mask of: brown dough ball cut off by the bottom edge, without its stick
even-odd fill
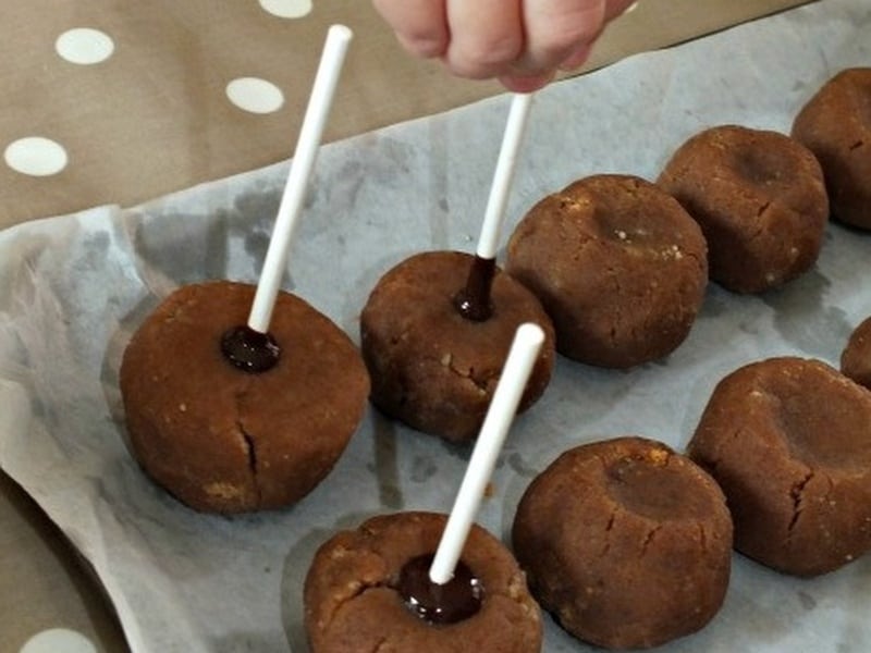
[[[480,608],[452,624],[429,624],[397,591],[403,567],[433,554],[445,515],[373,517],[322,544],[305,581],[305,627],[312,653],[531,653],[541,650],[538,604],[511,552],[474,526],[461,563],[479,580]]]

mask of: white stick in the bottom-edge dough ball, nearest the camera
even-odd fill
[[[478,442],[471,452],[466,476],[463,477],[429,569],[429,579],[434,583],[444,584],[454,577],[454,569],[478,514],[487,483],[493,475],[499,452],[543,342],[544,331],[538,324],[527,322],[517,328],[493,401],[490,402]]]

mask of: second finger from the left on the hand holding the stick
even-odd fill
[[[449,0],[449,67],[474,79],[506,73],[523,51],[520,11],[520,0]]]

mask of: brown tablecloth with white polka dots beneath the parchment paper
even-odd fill
[[[608,29],[585,71],[802,3],[643,0]],[[342,110],[331,115],[327,140],[503,90],[406,56],[368,2],[311,4],[7,3],[0,229],[99,205],[135,206],[287,159],[333,23],[352,27],[355,39],[335,98]],[[70,32],[81,28],[99,32]],[[228,85],[245,78],[270,91],[258,96],[267,104],[257,111],[229,100]],[[41,140],[24,140],[33,137]],[[48,145],[48,157],[16,158],[16,147],[34,144]],[[127,650],[94,574],[2,472],[0,525],[0,652],[19,653],[54,628],[81,633],[97,651]]]

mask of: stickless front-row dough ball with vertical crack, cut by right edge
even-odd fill
[[[770,358],[714,389],[688,454],[726,494],[735,547],[798,576],[871,547],[871,394],[827,365]]]

